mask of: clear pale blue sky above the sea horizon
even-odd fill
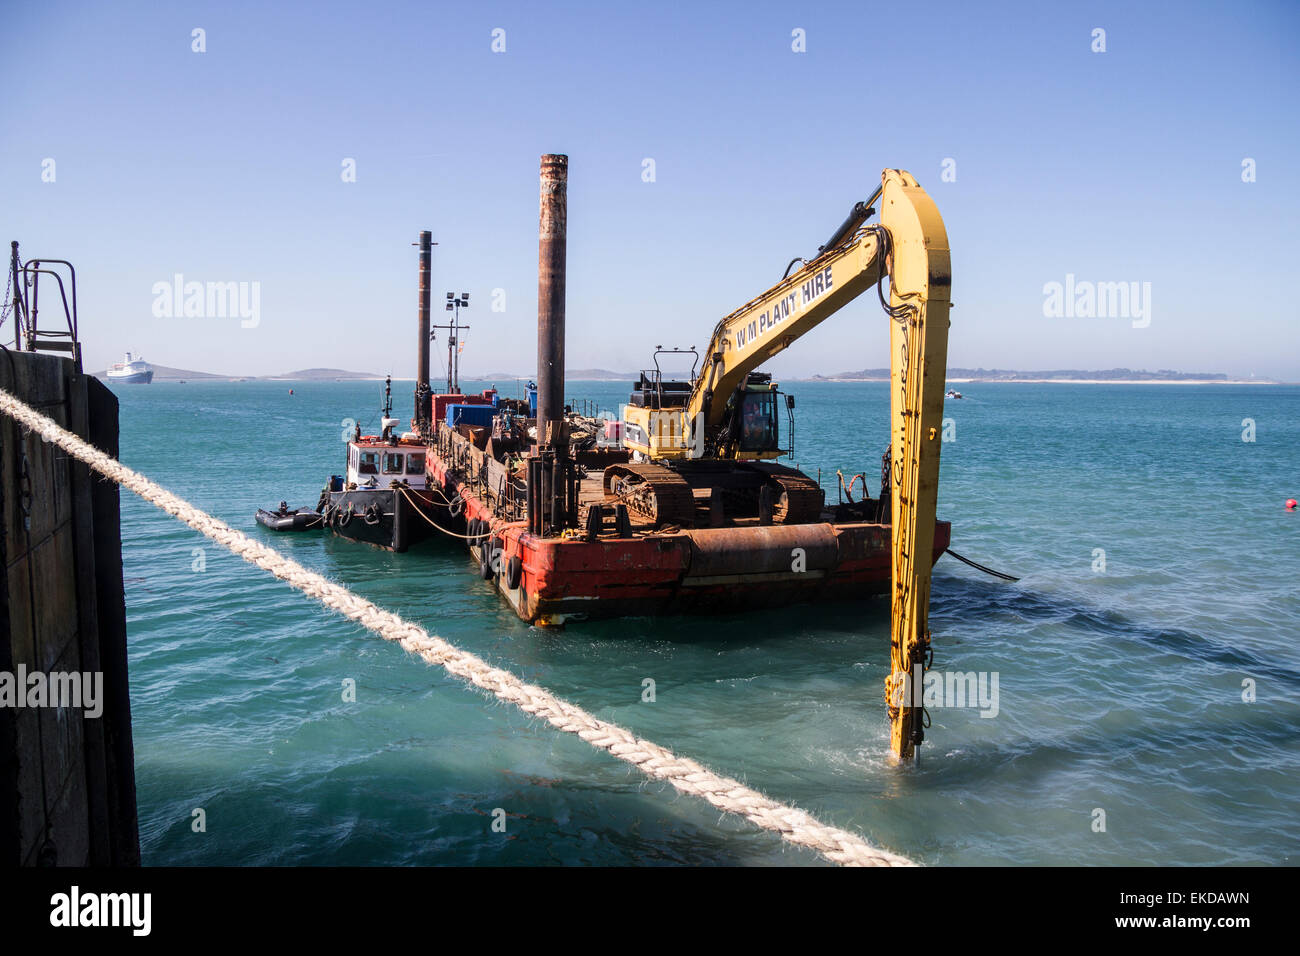
[[[6,4],[0,238],[75,263],[88,369],[411,376],[430,229],[436,308],[471,293],[464,376],[529,372],[538,157],[564,152],[568,365],[623,371],[703,347],[897,166],[946,221],[950,365],[1296,381],[1297,27],[1295,3]],[[155,315],[177,273],[257,282],[256,326]],[[1149,282],[1149,324],[1045,316],[1067,274]],[[772,368],[883,367],[887,338],[862,297]]]

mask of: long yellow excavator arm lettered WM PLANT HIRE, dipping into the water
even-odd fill
[[[879,225],[866,225],[879,202]],[[794,339],[889,277],[890,507],[893,570],[890,674],[885,700],[890,748],[904,760],[924,736],[922,678],[930,654],[930,570],[939,494],[939,451],[948,368],[952,285],[948,233],[933,200],[900,169],[836,230],[803,268],[718,323],[685,408],[690,457],[746,376]],[[689,423],[689,424],[686,424]]]

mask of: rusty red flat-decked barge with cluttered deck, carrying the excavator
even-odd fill
[[[542,470],[529,466],[537,459],[517,455],[519,446],[508,438],[494,440],[498,433],[494,428],[476,434],[441,421],[425,468],[443,514],[459,518],[480,576],[493,581],[524,620],[558,626],[602,617],[725,613],[889,592],[890,525],[878,520],[881,510],[888,514],[888,501],[842,502],[820,510],[812,522],[775,524],[763,515],[725,512],[719,522],[716,496],[696,493],[694,527],[664,524],[611,496],[604,470],[627,463],[629,454],[601,449],[572,455],[566,527],[540,533]],[[948,548],[950,533],[948,522],[936,523],[931,563]]]

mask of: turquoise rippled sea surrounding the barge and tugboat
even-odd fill
[[[939,562],[935,669],[996,674],[997,714],[933,708],[913,767],[887,756],[881,601],[534,630],[460,542],[398,555],[255,524],[281,498],[315,505],[342,470],[344,421],[377,424],[382,384],[116,390],[122,459],[199,507],[923,864],[1295,864],[1300,512],[1283,502],[1300,497],[1300,388],[958,388],[940,515],[954,550],[1022,580]],[[411,384],[394,390],[408,414]],[[569,385],[611,411],[627,390]],[[832,499],[836,468],[867,472],[875,492],[887,386],[789,390],[794,460],[822,470]],[[133,496],[122,503],[146,864],[823,862],[408,657]]]

